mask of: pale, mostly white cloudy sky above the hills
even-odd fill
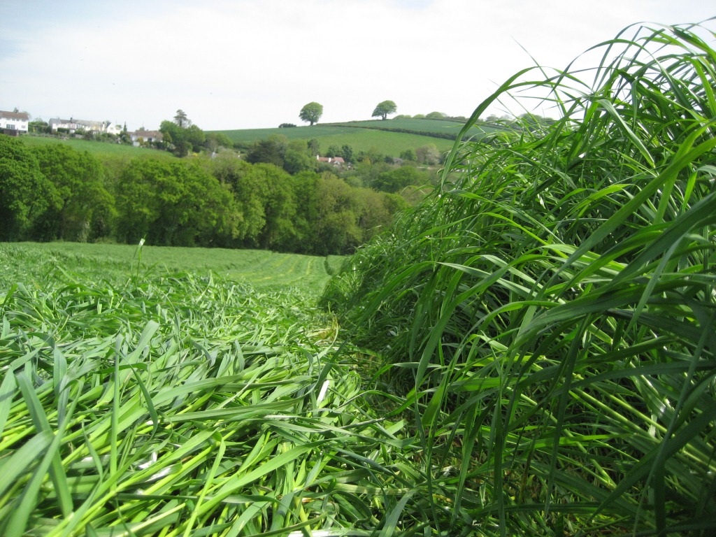
[[[314,101],[320,122],[384,100],[469,116],[535,61],[713,16],[708,0],[0,0],[0,110],[129,130],[179,109],[203,130],[303,125]]]

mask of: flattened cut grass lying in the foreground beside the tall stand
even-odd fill
[[[0,289],[0,534],[382,526],[409,442],[301,291],[142,274]]]

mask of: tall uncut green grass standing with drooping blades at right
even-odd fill
[[[437,531],[716,528],[710,24],[516,74],[465,129],[513,95],[561,119],[456,142],[442,188],[329,287],[412,410],[425,490],[453,505]]]

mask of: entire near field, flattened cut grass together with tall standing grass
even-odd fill
[[[0,534],[712,536],[715,38],[516,73],[348,258],[1,245]]]

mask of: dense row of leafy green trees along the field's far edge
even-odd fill
[[[183,127],[186,128],[186,127]],[[169,155],[102,162],[63,144],[0,136],[0,241],[118,241],[163,246],[350,253],[407,205],[425,178],[380,168],[367,183],[329,170]],[[407,175],[406,175],[407,174]],[[353,183],[353,184],[351,184]]]

